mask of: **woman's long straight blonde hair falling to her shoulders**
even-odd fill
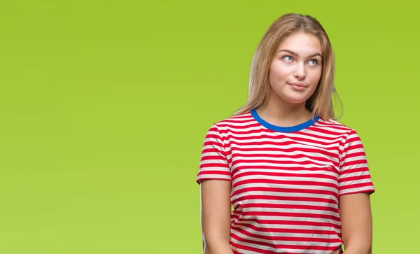
[[[234,115],[241,115],[267,103],[271,92],[269,85],[269,66],[279,44],[290,34],[304,32],[316,36],[321,42],[322,73],[314,94],[306,101],[306,108],[312,117],[318,115],[325,120],[337,120],[334,115],[332,94],[336,96],[334,87],[335,57],[327,33],[314,17],[288,13],[282,15],[267,29],[254,52],[249,74],[248,101]]]

